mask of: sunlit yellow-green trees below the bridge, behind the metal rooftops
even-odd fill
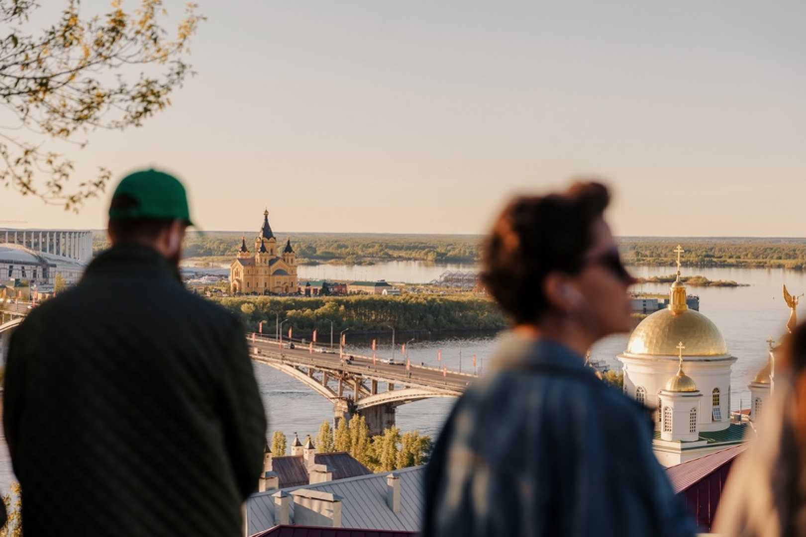
[[[347,452],[373,472],[391,472],[428,462],[432,442],[430,436],[418,431],[401,433],[397,427],[384,429],[382,435],[369,436],[367,420],[356,415],[339,419],[335,430],[327,421],[322,422],[314,440],[317,453]],[[272,435],[272,456],[287,454],[288,440],[280,431]]]

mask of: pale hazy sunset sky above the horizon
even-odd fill
[[[804,236],[803,2],[197,2],[172,107],[70,156],[174,172],[201,229],[484,233],[598,176],[620,235]],[[0,226],[102,228],[109,194],[0,188]]]

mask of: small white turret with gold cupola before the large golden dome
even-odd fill
[[[687,374],[683,372],[683,349],[680,341],[678,369],[660,391],[661,440],[692,442],[700,438],[700,401],[702,393]]]

